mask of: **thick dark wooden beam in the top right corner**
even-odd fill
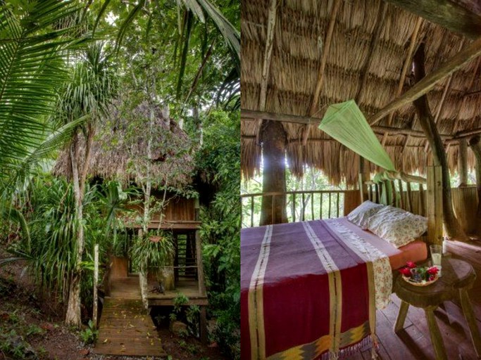
[[[468,39],[477,39],[481,34],[481,17],[450,0],[385,0],[430,23]]]

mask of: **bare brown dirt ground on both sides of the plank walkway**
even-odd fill
[[[0,259],[5,254],[0,253]],[[142,360],[152,357],[101,356],[83,345],[78,330],[63,325],[63,308],[37,294],[19,263],[0,266],[0,360]],[[196,338],[180,338],[158,329],[167,360],[225,360],[215,344],[202,345]],[[8,352],[7,352],[8,349]],[[13,349],[13,350],[12,350]],[[13,351],[13,353],[12,353]]]

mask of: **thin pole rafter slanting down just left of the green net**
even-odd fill
[[[320,66],[318,71],[318,81],[316,82],[316,89],[314,90],[314,95],[311,101],[311,106],[308,111],[309,116],[313,116],[316,113],[316,108],[318,106],[318,100],[320,95],[320,89],[323,87],[324,82],[324,72],[325,72],[325,65],[327,64],[327,55],[329,55],[329,51],[331,48],[332,42],[332,34],[334,34],[334,25],[336,24],[337,12],[341,7],[341,0],[335,0],[334,5],[332,6],[332,11],[329,19],[329,27],[327,27],[327,34],[324,41],[323,46],[323,56],[320,59]],[[309,131],[311,127],[306,125],[304,127],[302,138],[304,139],[303,143],[306,145],[307,138],[309,137]]]

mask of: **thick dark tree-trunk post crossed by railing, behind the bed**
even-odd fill
[[[261,129],[263,150],[263,193],[285,193],[286,134],[280,122],[266,121]],[[274,201],[273,201],[274,200]],[[261,225],[287,222],[285,195],[263,196]]]

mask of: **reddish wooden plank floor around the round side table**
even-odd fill
[[[477,325],[481,329],[481,241],[470,243],[449,242],[448,251],[454,258],[463,259],[473,265],[478,275],[475,286],[470,290],[470,299],[477,318]],[[404,330],[395,334],[393,330],[399,310],[400,300],[392,295],[393,302],[382,310],[377,311],[377,337],[380,346],[377,351],[382,360],[435,360],[424,311],[409,307]],[[448,359],[475,360],[477,356],[470,341],[468,325],[463,317],[458,300],[445,302],[444,309],[435,311],[437,324],[441,330]],[[349,357],[352,360],[367,360],[371,357],[370,349],[358,352]]]

